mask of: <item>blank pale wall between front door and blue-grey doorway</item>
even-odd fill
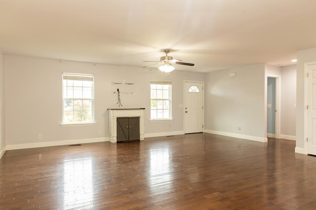
[[[206,74],[205,131],[266,141],[265,78],[264,63]]]

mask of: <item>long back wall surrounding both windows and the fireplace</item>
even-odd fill
[[[146,134],[183,133],[183,81],[204,81],[204,73],[175,70],[169,76],[158,69],[93,64],[87,62],[5,56],[5,131],[7,149],[49,146],[43,142],[108,137],[108,108],[146,108]],[[95,76],[95,125],[61,127],[62,73]],[[150,79],[172,80],[172,121],[150,122]],[[114,85],[112,83],[135,83]],[[132,94],[130,94],[132,92]],[[98,131],[102,134],[99,135]],[[38,139],[38,134],[42,139]],[[93,141],[94,141],[93,140]],[[31,144],[30,144],[31,143]],[[29,145],[25,145],[29,144]],[[60,142],[59,142],[60,144]],[[13,146],[12,146],[13,145]],[[14,146],[15,145],[15,146]],[[17,146],[18,145],[18,146]]]

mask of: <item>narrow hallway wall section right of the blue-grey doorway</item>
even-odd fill
[[[296,136],[296,64],[281,68],[281,138]]]

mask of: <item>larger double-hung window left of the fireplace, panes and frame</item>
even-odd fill
[[[94,123],[94,77],[63,74],[63,124]]]

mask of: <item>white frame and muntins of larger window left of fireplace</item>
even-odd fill
[[[91,98],[89,97],[84,97],[83,96],[83,86],[82,86],[82,97],[74,97],[73,96],[68,96],[67,94],[65,95],[65,90],[64,90],[64,83],[65,82],[68,82],[68,81],[89,81],[91,82]],[[62,87],[62,91],[63,91],[63,113],[62,113],[62,116],[63,116],[63,121],[62,121],[62,125],[83,125],[83,124],[94,124],[94,76],[92,74],[75,74],[75,73],[63,73],[62,74],[62,84],[63,84],[63,87]],[[68,87],[68,85],[66,85],[66,87]],[[74,86],[73,86],[74,88]],[[68,122],[66,121],[65,119],[65,100],[82,100],[82,103],[83,103],[83,100],[89,100],[91,101],[91,120],[89,121],[72,121],[72,122]],[[82,104],[82,108],[83,108],[83,104]],[[75,110],[73,110],[75,112]],[[83,112],[84,110],[82,110]]]

